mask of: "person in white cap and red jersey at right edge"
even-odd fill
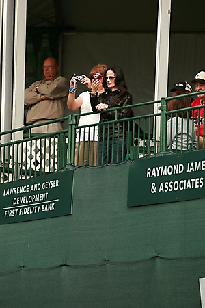
[[[201,71],[195,75],[195,79],[191,81],[195,84],[195,92],[205,91],[205,72]],[[191,107],[202,106],[205,107],[205,93],[197,94],[197,99],[191,103]],[[195,124],[195,134],[198,138],[199,146],[204,147],[204,108],[193,110],[191,119]]]

